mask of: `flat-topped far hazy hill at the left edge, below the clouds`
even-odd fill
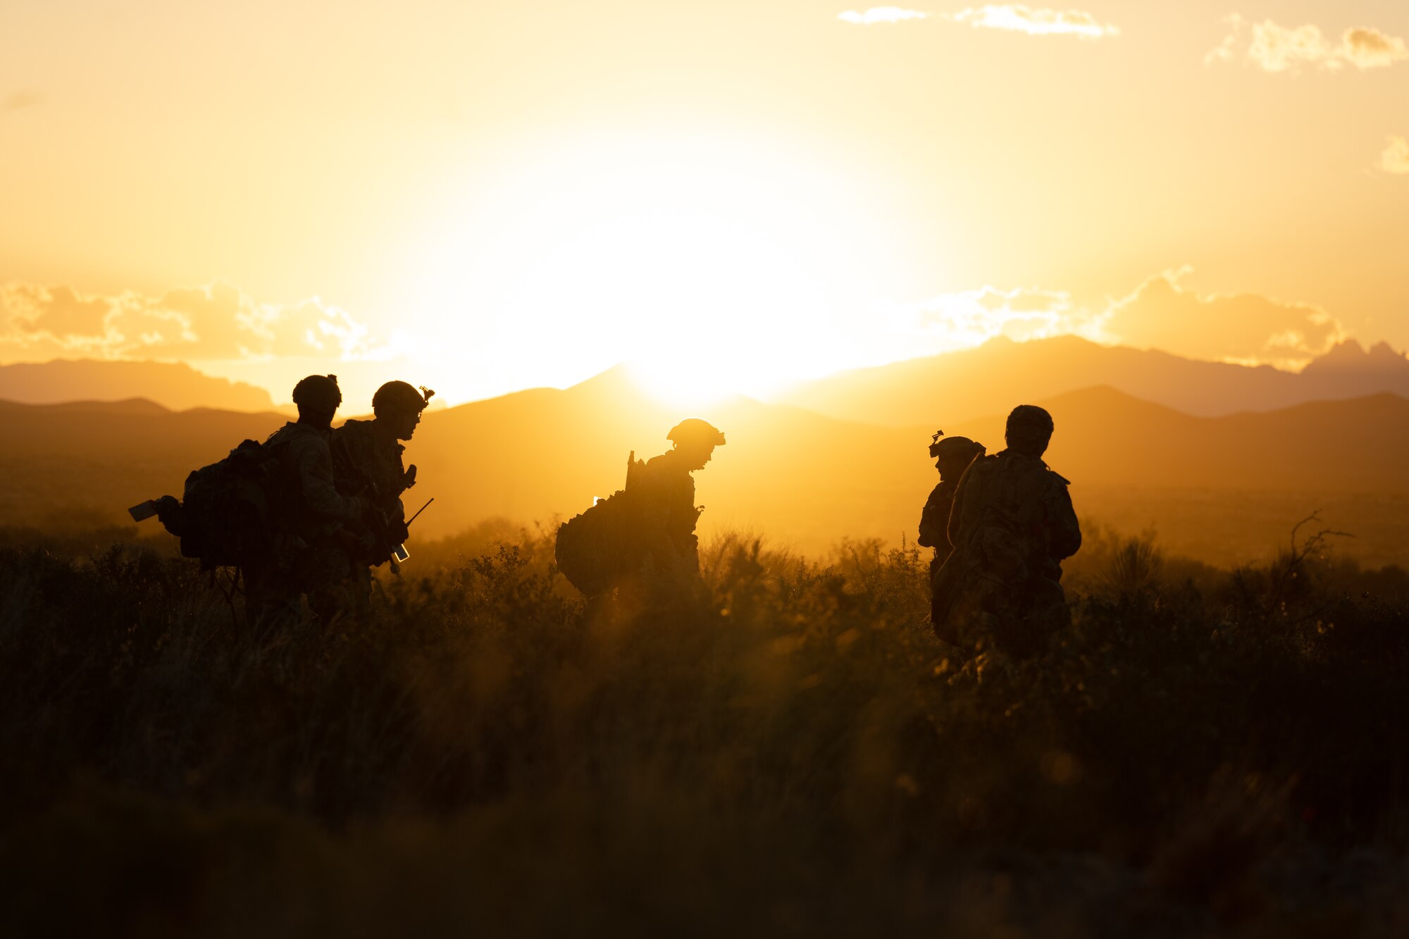
[[[273,410],[269,392],[179,362],[54,360],[0,365],[0,399],[28,405],[145,398],[172,410]]]

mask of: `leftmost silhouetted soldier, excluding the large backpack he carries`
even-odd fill
[[[292,533],[292,548],[287,557],[278,553],[241,561],[247,612],[261,632],[299,618],[299,595],[309,592],[311,601],[328,556],[371,509],[366,499],[340,493],[333,481],[328,438],[342,403],[337,375],[309,375],[293,386],[293,403],[299,420],[273,431],[263,444],[278,454],[282,522]]]

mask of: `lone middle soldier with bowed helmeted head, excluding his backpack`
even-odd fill
[[[695,505],[696,470],[724,446],[724,434],[699,417],[686,417],[665,436],[672,450],[652,457],[641,475],[641,548],[661,574],[697,575],[699,537],[695,524],[704,506]]]

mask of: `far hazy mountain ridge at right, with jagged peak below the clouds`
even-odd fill
[[[1409,396],[1409,360],[1384,343],[1365,351],[1347,341],[1295,374],[1098,345],[1075,336],[995,338],[972,350],[840,372],[782,400],[845,420],[948,430],[957,420],[1095,385],[1212,417],[1378,392]]]

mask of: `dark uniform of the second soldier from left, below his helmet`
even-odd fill
[[[333,471],[338,489],[369,499],[382,520],[355,529],[338,553],[324,594],[320,615],[337,613],[365,619],[372,612],[372,567],[390,560],[392,548],[407,537],[402,493],[416,482],[402,461],[406,447],[375,420],[348,420],[333,431]],[[382,523],[385,522],[385,524]]]

